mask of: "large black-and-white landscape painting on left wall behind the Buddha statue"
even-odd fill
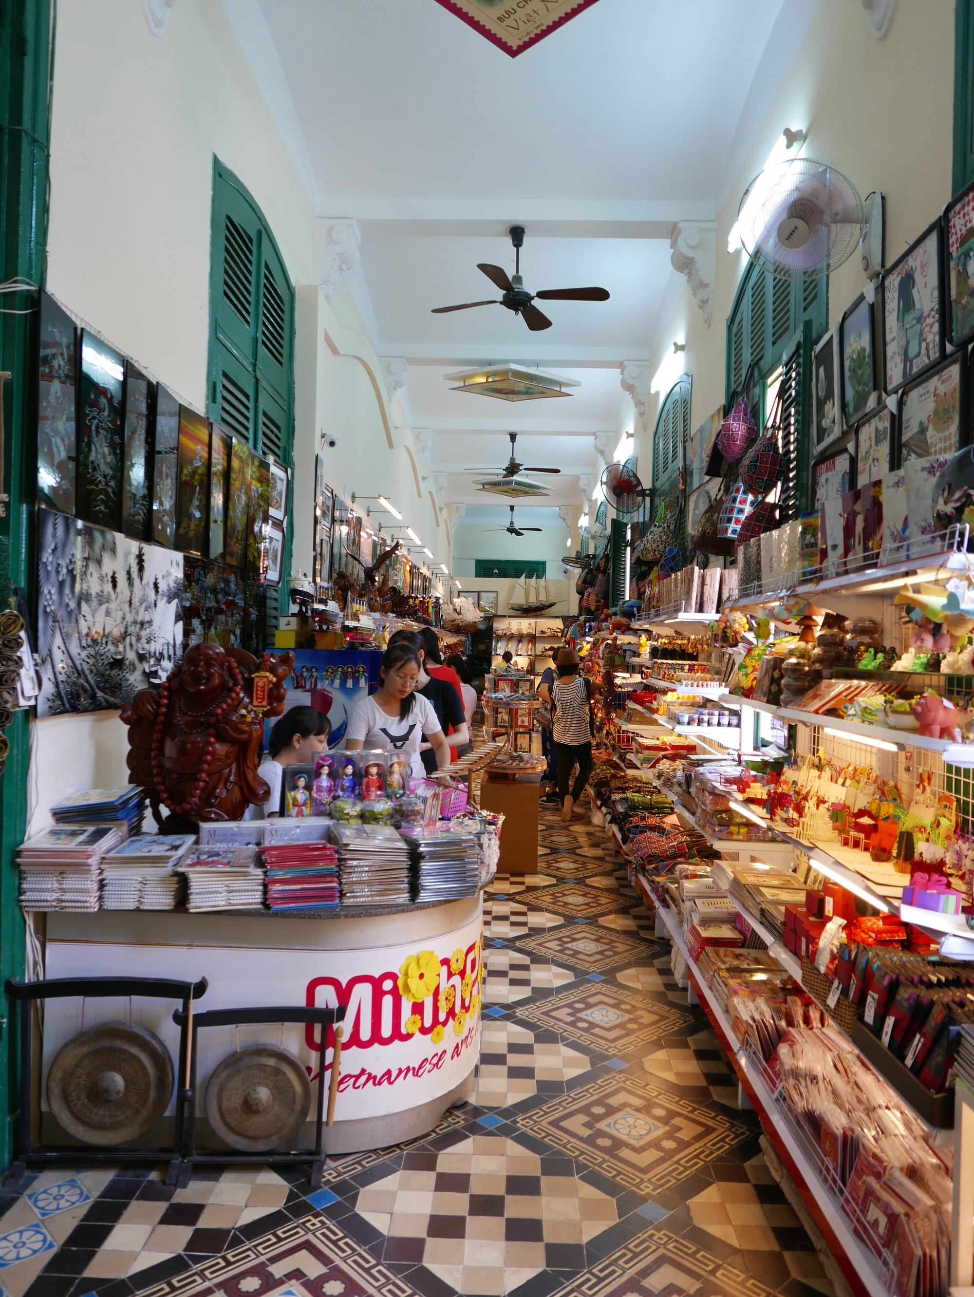
[[[183,555],[39,510],[38,716],[123,707],[183,654]]]

